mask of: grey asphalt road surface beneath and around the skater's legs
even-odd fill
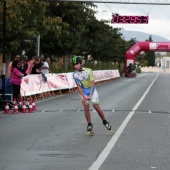
[[[91,106],[94,136],[78,92],[0,113],[0,170],[169,170],[170,74],[142,73],[97,86],[112,135]]]

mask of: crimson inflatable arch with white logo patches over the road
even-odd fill
[[[126,52],[125,59],[125,75],[126,68],[130,63],[134,63],[136,60],[136,56],[141,51],[170,51],[170,42],[137,42]]]

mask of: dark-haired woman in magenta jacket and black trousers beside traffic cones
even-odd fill
[[[21,87],[22,77],[24,77],[24,74],[21,72],[21,62],[13,61],[11,84],[13,87],[13,99],[16,99],[16,101],[18,101],[20,97],[20,87]]]

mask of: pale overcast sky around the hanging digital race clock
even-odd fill
[[[149,16],[148,24],[110,24],[114,28],[155,34],[170,40],[170,5],[139,5],[96,3],[97,19],[111,20],[112,13],[119,15]]]

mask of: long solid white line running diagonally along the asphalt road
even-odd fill
[[[132,111],[128,114],[128,116],[125,118],[125,120],[123,121],[123,123],[120,125],[119,129],[116,131],[116,133],[113,135],[113,137],[110,139],[110,141],[108,142],[108,144],[106,145],[106,147],[103,149],[103,151],[101,152],[101,154],[98,156],[98,158],[96,159],[96,161],[90,166],[90,168],[88,170],[98,170],[100,168],[100,166],[103,164],[103,162],[105,161],[105,159],[107,158],[107,156],[109,155],[110,151],[112,150],[112,148],[114,147],[114,145],[116,144],[117,140],[119,139],[120,135],[122,134],[123,130],[125,129],[126,125],[128,124],[128,122],[130,121],[130,119],[132,118],[132,116],[135,113],[135,110],[137,110],[137,108],[139,107],[139,105],[142,103],[142,101],[144,100],[144,98],[146,97],[147,93],[149,92],[150,88],[152,87],[152,85],[154,84],[154,82],[156,81],[156,79],[158,78],[159,74],[156,76],[156,78],[152,81],[152,83],[149,85],[148,89],[145,91],[145,93],[143,94],[143,96],[139,99],[139,101],[136,103],[136,105],[133,107]]]

